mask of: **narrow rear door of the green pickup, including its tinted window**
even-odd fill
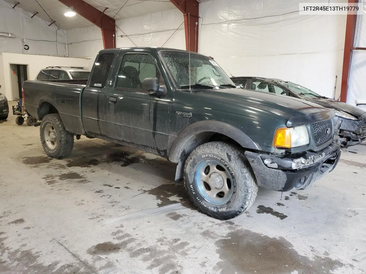
[[[81,113],[83,126],[86,132],[105,135],[105,129],[101,128],[102,109],[99,105],[99,97],[107,88],[107,79],[111,76],[111,67],[115,59],[114,53],[102,53],[93,65],[90,80],[82,93]]]

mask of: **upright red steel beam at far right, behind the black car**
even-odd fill
[[[348,0],[348,3],[358,3],[358,0]],[[346,37],[344,38],[343,69],[341,82],[341,102],[347,101],[348,78],[350,77],[350,65],[352,49],[355,41],[357,15],[347,14]]]

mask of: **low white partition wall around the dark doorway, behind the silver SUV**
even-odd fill
[[[84,66],[89,65],[89,60],[81,58],[66,58],[53,56],[40,56],[31,54],[2,53],[0,68],[1,93],[5,94],[8,100],[14,100],[11,90],[11,69],[10,64],[28,65],[28,79],[36,79],[38,72],[47,66]],[[3,77],[1,77],[3,75]]]

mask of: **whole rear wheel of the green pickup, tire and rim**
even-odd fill
[[[43,117],[40,136],[47,155],[60,159],[72,152],[74,134],[66,131],[59,114],[47,114]]]

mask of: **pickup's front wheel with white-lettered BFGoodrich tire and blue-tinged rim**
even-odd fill
[[[191,152],[184,186],[201,212],[220,220],[245,212],[258,193],[249,162],[238,147],[225,142],[209,142]]]

